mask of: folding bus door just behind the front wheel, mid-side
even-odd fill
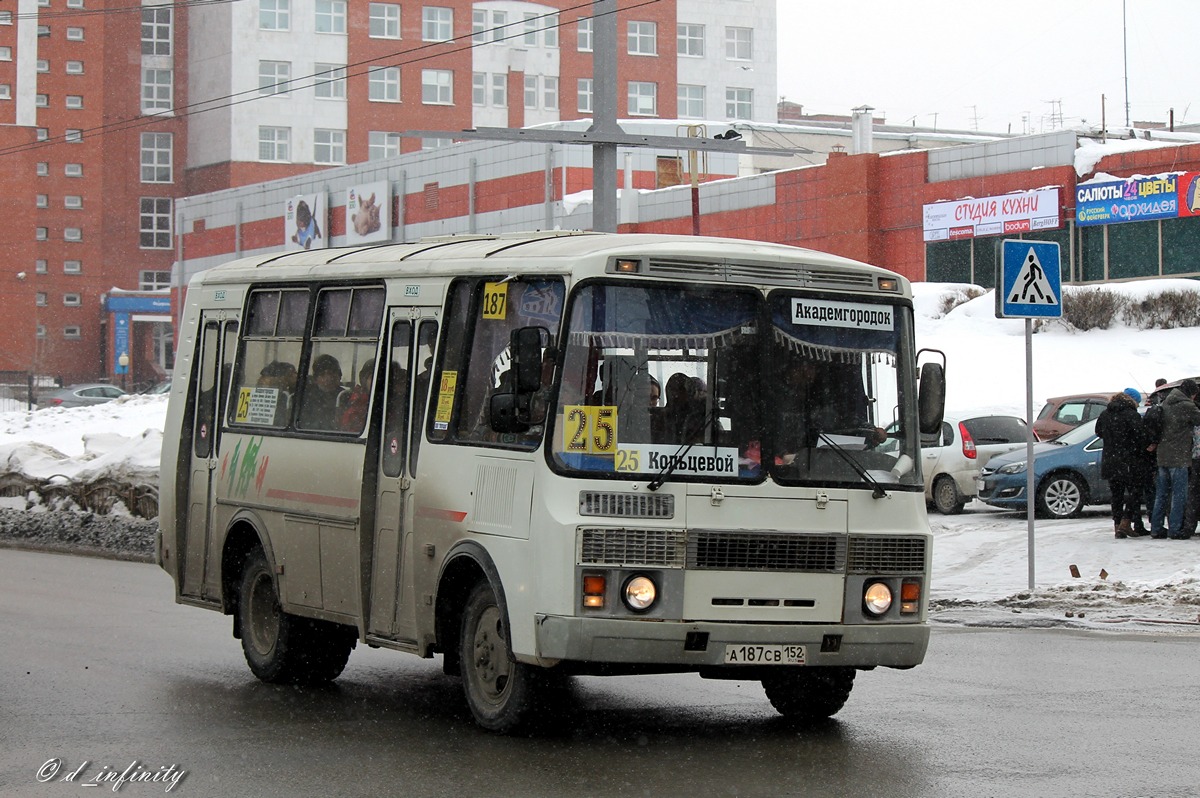
[[[410,474],[428,396],[428,370],[436,340],[436,320],[422,319],[416,308],[391,310],[367,631],[396,640],[413,641],[416,636],[412,606],[413,538],[406,499],[413,487]]]

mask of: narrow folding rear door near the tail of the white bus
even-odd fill
[[[184,553],[182,587],[180,593],[196,598],[216,599],[204,589],[206,552],[211,536],[212,488],[220,458],[220,430],[224,397],[229,392],[233,355],[238,349],[238,322],[227,319],[226,312],[200,314],[200,336],[197,347],[198,373],[196,394],[188,413],[192,418],[191,462],[187,485],[187,524],[179,548]]]

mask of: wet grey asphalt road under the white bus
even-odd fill
[[[0,550],[0,796],[1200,794],[1195,635],[936,626],[806,730],[756,683],[577,679],[556,728],[506,738],[438,660],[260,684],[172,595],[152,565]]]

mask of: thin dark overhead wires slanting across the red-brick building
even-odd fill
[[[239,0],[205,0],[205,5],[208,5],[210,2],[238,2],[238,1]],[[199,0],[191,0],[191,2],[193,5],[197,5],[199,2]],[[599,17],[604,17],[604,16],[608,16],[608,14],[616,14],[616,13],[619,13],[619,12],[634,11],[634,10],[637,10],[637,8],[642,8],[644,6],[655,5],[658,2],[661,2],[661,0],[642,0],[641,2],[636,2],[636,4],[632,4],[632,5],[625,6],[624,8],[617,8],[614,11],[606,11],[606,12],[602,12],[600,14],[593,14],[593,16],[588,16],[588,17],[580,17],[580,19],[595,19],[595,18],[599,18]],[[184,5],[184,4],[179,4],[179,5]],[[575,6],[568,6],[566,8],[556,10],[553,12],[548,12],[548,13],[545,13],[545,14],[539,14],[539,16],[532,17],[529,19],[545,19],[547,17],[560,16],[562,13],[570,12],[570,11],[578,11],[580,8],[584,8],[584,7],[590,8],[592,5],[593,4],[590,2],[590,0],[587,0],[586,2],[581,2],[581,4],[575,5]],[[157,6],[138,6],[139,10],[143,8],[143,7],[154,8],[154,7],[157,7]],[[424,61],[428,61],[428,60],[432,60],[434,58],[444,58],[446,55],[452,55],[455,53],[469,52],[469,50],[475,49],[476,47],[482,47],[485,44],[492,44],[492,43],[500,42],[500,41],[508,41],[510,38],[523,37],[526,35],[526,31],[523,30],[523,28],[527,24],[527,22],[528,22],[528,19],[520,19],[520,20],[516,20],[516,22],[506,23],[504,25],[497,25],[494,28],[488,28],[488,29],[484,29],[484,30],[479,30],[479,31],[474,31],[473,30],[472,31],[472,42],[469,44],[460,46],[460,47],[455,47],[455,48],[449,48],[449,49],[442,50],[442,52],[439,52],[437,54],[433,54],[433,55],[421,55],[421,56],[412,59],[412,60],[400,60],[400,61],[395,61],[395,62],[388,62],[386,61],[388,59],[391,59],[391,58],[410,56],[414,53],[420,53],[421,50],[427,50],[427,49],[436,48],[436,47],[439,47],[439,46],[443,46],[443,44],[454,44],[455,40],[454,38],[449,38],[449,40],[438,41],[438,42],[424,42],[422,44],[420,44],[418,47],[414,47],[414,48],[410,48],[410,49],[407,49],[407,50],[397,50],[395,53],[389,53],[386,55],[379,55],[379,56],[376,56],[376,58],[372,58],[372,59],[366,59],[364,61],[358,61],[358,62],[354,62],[354,64],[347,64],[346,67],[344,67],[347,70],[344,79],[349,79],[352,77],[360,77],[360,76],[367,74],[367,73],[370,73],[372,71],[372,68],[376,68],[376,67],[379,67],[379,66],[383,66],[383,67],[388,67],[388,66],[400,66],[400,67],[412,66],[414,64],[421,64]],[[551,28],[554,29],[554,30],[560,30],[565,24],[566,23],[563,23],[560,20],[558,24],[552,25]],[[517,25],[520,25],[522,28],[522,30],[520,30],[517,32],[514,32],[514,34],[505,35],[505,36],[496,36],[494,35],[496,31],[502,31],[502,30],[504,30],[506,28],[514,28],[514,26],[517,26]],[[542,28],[541,30],[550,30],[551,28]],[[480,35],[480,34],[484,34],[484,35],[491,34],[491,36],[488,36],[488,40],[486,42],[475,42],[474,37],[476,35]],[[384,61],[384,64],[379,64],[380,61]],[[373,66],[367,66],[367,65],[373,65]],[[362,66],[366,66],[367,68],[364,68],[364,70],[360,70],[360,71],[353,72],[353,73],[349,72],[350,68],[356,68],[356,67],[362,67]],[[313,80],[313,83],[311,83],[311,84],[304,84],[304,85],[298,85],[296,86],[299,89],[308,89],[308,88],[313,88],[313,86],[317,86],[317,85],[320,85],[320,84],[332,83],[334,80],[329,79],[330,74],[331,74],[331,72],[329,72],[329,71],[316,72],[313,74],[301,76],[299,78],[290,78],[288,80],[282,80],[280,83],[271,84],[270,88],[276,88],[276,86],[281,86],[281,85],[299,84],[302,80]],[[154,125],[154,124],[163,121],[163,120],[184,119],[186,116],[192,116],[192,115],[196,115],[196,114],[203,114],[203,113],[208,113],[210,110],[221,110],[223,108],[232,108],[234,106],[240,106],[242,103],[254,102],[254,101],[258,101],[258,100],[269,100],[269,98],[276,96],[274,94],[271,94],[271,95],[260,94],[260,91],[264,88],[266,88],[266,86],[258,86],[258,88],[254,88],[254,89],[247,89],[245,91],[238,91],[238,92],[223,95],[223,96],[220,96],[220,97],[212,97],[212,98],[209,98],[209,100],[202,100],[199,102],[188,103],[187,106],[184,106],[181,109],[180,108],[172,108],[170,110],[166,110],[166,112],[162,112],[162,113],[140,114],[138,116],[131,116],[131,118],[126,118],[126,119],[119,119],[119,120],[115,120],[113,122],[106,122],[103,125],[98,125],[96,127],[82,128],[78,132],[72,132],[70,134],[64,133],[61,136],[52,136],[49,138],[42,139],[40,142],[32,142],[30,144],[17,144],[17,145],[8,146],[8,148],[0,148],[0,157],[4,157],[6,155],[16,155],[16,154],[19,154],[19,152],[28,152],[28,151],[31,151],[31,150],[38,150],[38,149],[43,149],[43,148],[47,148],[47,146],[56,146],[59,144],[64,144],[64,143],[67,143],[67,142],[79,143],[80,139],[85,139],[85,138],[89,138],[89,137],[96,137],[96,136],[103,137],[103,136],[108,136],[110,133],[121,133],[121,132],[125,132],[125,131],[128,131],[128,130],[134,130],[134,128],[138,128],[138,127],[145,127],[145,126],[149,126],[149,125]],[[217,103],[217,104],[214,104],[214,103]]]

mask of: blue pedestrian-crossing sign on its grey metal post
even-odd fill
[[[1062,317],[1062,266],[1058,245],[1006,239],[996,263],[996,318],[1025,319],[1025,522],[1028,527],[1030,589],[1034,584],[1033,514],[1037,480],[1033,454],[1033,319]]]

